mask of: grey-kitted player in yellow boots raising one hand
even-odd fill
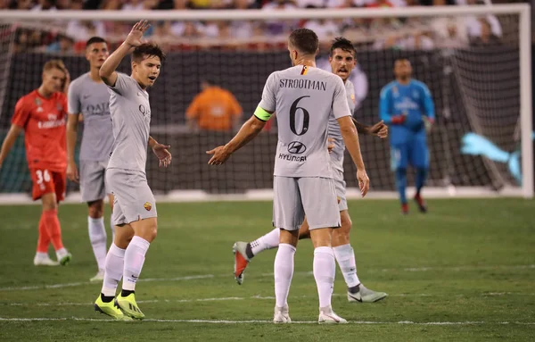
[[[169,146],[149,136],[151,106],[146,89],[158,79],[165,54],[160,47],[142,42],[148,28],[147,21],[136,22],[127,39],[99,71],[111,94],[114,141],[106,182],[114,196],[115,235],[106,255],[103,288],[95,301],[95,310],[118,320],[144,318],[136,304],[136,281],[157,230],[156,204],[145,174],[147,145],[161,166],[171,163]],[[131,76],[115,71],[128,54],[132,54]],[[114,301],[121,278],[122,291]]]

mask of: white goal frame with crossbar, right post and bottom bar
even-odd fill
[[[529,4],[495,4],[495,5],[457,5],[457,6],[411,6],[403,8],[374,8],[374,9],[300,9],[293,11],[264,11],[264,10],[204,10],[204,11],[2,11],[0,25],[14,22],[47,22],[47,21],[267,21],[267,20],[302,20],[302,19],[374,19],[374,18],[407,18],[407,17],[464,17],[482,15],[514,15],[518,18],[517,48],[518,48],[518,84],[519,84],[519,113],[518,127],[520,134],[520,150],[522,154],[522,186],[519,188],[505,187],[501,191],[492,191],[481,186],[432,187],[426,189],[426,194],[437,196],[523,196],[532,198],[534,195],[533,171],[533,126],[532,126],[532,98],[531,98],[531,7]],[[516,41],[516,39],[515,39]],[[4,52],[0,53],[4,54]],[[1,80],[0,80],[1,81]],[[484,89],[482,90],[484,91]],[[0,92],[1,94],[1,92]],[[518,94],[517,94],[518,95]],[[440,95],[438,95],[440,96]],[[258,97],[259,98],[259,95]],[[2,99],[0,99],[2,103]],[[0,111],[2,108],[0,107]],[[248,113],[245,113],[248,114]],[[440,113],[438,113],[440,115]],[[11,115],[2,113],[1,115]],[[0,115],[0,116],[1,116]],[[369,122],[368,122],[369,123]],[[366,153],[366,152],[365,152]],[[393,178],[393,175],[391,175]],[[433,191],[434,190],[434,191]],[[0,189],[1,191],[1,189]],[[429,192],[428,192],[429,191]],[[349,189],[348,197],[358,197],[358,192]],[[170,200],[194,199],[224,199],[224,196],[206,196],[197,190],[168,191]],[[189,195],[191,195],[191,197]],[[203,194],[203,195],[199,195]],[[268,195],[266,195],[268,194]],[[395,196],[392,191],[385,191],[389,197]],[[370,194],[372,195],[372,194]],[[0,197],[3,197],[0,192]],[[244,192],[244,196],[229,196],[228,198],[268,198],[269,192],[251,189]],[[383,195],[376,195],[383,197]],[[13,197],[12,197],[13,198]],[[0,202],[2,202],[0,198]]]

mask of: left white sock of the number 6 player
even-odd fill
[[[288,292],[292,284],[293,256],[295,247],[288,244],[280,244],[275,256],[275,298],[276,306],[283,307],[288,304]]]

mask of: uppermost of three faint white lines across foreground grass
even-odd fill
[[[375,273],[375,272],[391,272],[391,271],[409,271],[409,272],[424,272],[424,271],[477,271],[477,270],[535,270],[535,264],[529,264],[529,265],[479,265],[479,266],[445,266],[445,267],[416,267],[416,268],[404,268],[404,269],[379,269],[379,270],[366,270],[366,272]],[[313,275],[312,271],[296,271],[293,273],[294,275]],[[261,277],[273,277],[273,273],[261,273],[259,276]],[[214,274],[202,274],[202,275],[193,275],[193,276],[184,276],[184,277],[176,277],[176,278],[146,278],[146,279],[139,279],[137,281],[157,281],[157,282],[165,282],[165,281],[182,281],[182,280],[193,280],[193,279],[210,279],[215,277],[221,277],[221,278],[229,278],[228,274],[220,274],[220,275],[214,275]],[[51,289],[51,288],[70,288],[70,287],[78,287],[78,286],[85,286],[85,285],[93,285],[98,283],[92,283],[89,281],[82,281],[82,282],[72,282],[72,283],[61,283],[61,284],[51,284],[51,285],[35,285],[35,286],[26,286],[26,287],[7,287],[7,288],[0,288],[0,291],[27,291],[27,290],[43,290],[43,289]]]

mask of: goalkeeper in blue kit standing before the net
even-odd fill
[[[424,83],[411,79],[412,67],[405,58],[394,63],[395,80],[381,90],[379,114],[390,128],[391,166],[396,172],[396,188],[399,192],[402,213],[408,213],[407,166],[416,168],[415,201],[420,212],[427,212],[422,198],[427,172],[429,150],[427,131],[435,119],[431,92]]]

